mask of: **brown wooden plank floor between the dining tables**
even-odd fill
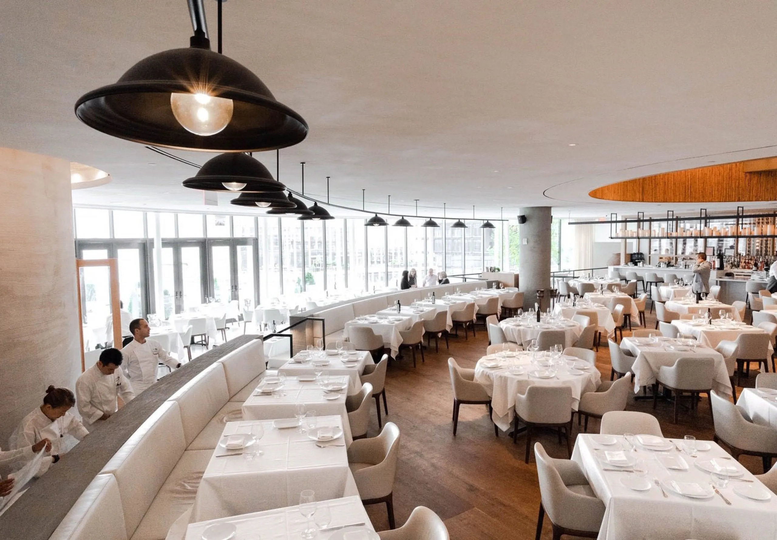
[[[653,328],[654,315],[648,314],[647,325]],[[629,331],[625,331],[629,336]],[[413,368],[409,351],[402,361],[394,362],[386,378],[389,420],[399,426],[401,443],[399,469],[394,487],[394,508],[397,526],[403,524],[416,506],[434,510],[448,526],[454,540],[486,538],[534,538],[539,507],[539,488],[534,456],[524,463],[525,440],[517,444],[506,434],[494,437],[485,406],[462,405],[458,433],[454,437],[451,423],[452,393],[448,375],[448,357],[454,357],[462,367],[473,368],[485,354],[488,337],[479,329],[469,340],[451,337],[451,348],[441,343],[439,354],[432,347],[424,351],[426,361]],[[754,364],[753,364],[754,365]],[[608,348],[601,347],[597,366],[602,380],[610,377]],[[758,371],[751,369],[743,385],[753,386]],[[738,390],[737,390],[738,393]],[[629,400],[629,410],[653,413],[653,402]],[[682,411],[677,424],[672,423],[672,405],[659,402],[654,413],[667,437],[694,435],[712,440],[713,421],[709,401],[702,398],[695,412]],[[590,432],[598,432],[598,420],[591,419]],[[378,434],[375,409],[369,437]],[[577,437],[577,420],[573,437]],[[558,444],[555,432],[539,434],[550,455],[566,458],[566,444]],[[742,463],[754,473],[760,473],[760,458],[742,458]],[[389,528],[385,504],[367,508],[376,530]],[[542,538],[551,538],[550,525],[545,520]]]

